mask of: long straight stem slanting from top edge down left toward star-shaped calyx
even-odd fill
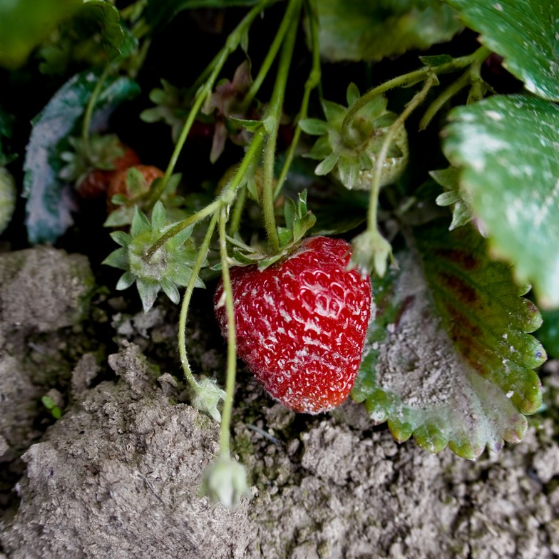
[[[196,92],[196,96],[194,98],[193,106],[188,113],[188,117],[186,118],[185,124],[183,126],[183,130],[180,132],[180,136],[177,140],[175,145],[175,149],[173,150],[173,154],[169,160],[169,164],[167,165],[167,169],[165,170],[165,175],[163,175],[163,179],[158,184],[158,187],[155,188],[151,195],[150,195],[150,203],[149,207],[153,207],[155,202],[159,200],[160,196],[165,191],[165,186],[171,175],[173,175],[173,170],[175,170],[175,165],[177,164],[179,155],[183,150],[183,146],[185,145],[186,138],[188,137],[188,133],[190,132],[190,128],[198,116],[198,112],[202,108],[206,98],[210,96],[212,93],[212,89],[214,86],[215,81],[217,80],[217,76],[219,76],[220,71],[222,70],[227,58],[229,58],[230,54],[237,50],[240,42],[242,41],[242,37],[250,28],[252,21],[254,21],[257,16],[259,16],[262,11],[271,4],[271,0],[262,0],[260,1],[249,13],[242,19],[239,25],[231,31],[230,35],[227,37],[227,41],[225,41],[225,46],[217,53],[217,56],[212,60],[210,66],[212,71],[210,72],[210,76],[206,79],[206,81],[198,88]]]

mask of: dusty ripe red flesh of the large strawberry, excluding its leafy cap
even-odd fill
[[[293,411],[319,414],[352,390],[371,315],[369,277],[348,270],[350,245],[309,237],[262,272],[230,270],[237,355],[270,395]],[[222,283],[214,304],[227,337]]]

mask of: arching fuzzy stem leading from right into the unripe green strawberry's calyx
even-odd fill
[[[364,108],[364,106],[366,106],[366,104],[369,103],[369,101],[372,101],[376,96],[382,95],[382,93],[386,93],[386,91],[389,91],[396,87],[414,86],[416,83],[429,78],[429,76],[438,76],[441,73],[451,73],[461,68],[465,68],[471,63],[477,61],[478,58],[480,58],[481,56],[483,56],[483,58],[486,58],[489,53],[491,53],[491,51],[489,51],[487,47],[482,46],[468,56],[454,58],[451,62],[441,64],[440,66],[434,66],[432,68],[430,66],[426,66],[425,68],[420,68],[419,70],[406,73],[403,76],[397,76],[396,78],[392,78],[389,81],[381,83],[380,86],[367,91],[367,93],[361,96],[354,103],[354,105],[349,108],[349,111],[347,111],[347,114],[344,118],[344,122],[342,123],[342,137],[349,137],[349,125],[351,125],[352,120],[357,115],[357,113],[359,113],[359,111],[361,111],[361,109]]]

